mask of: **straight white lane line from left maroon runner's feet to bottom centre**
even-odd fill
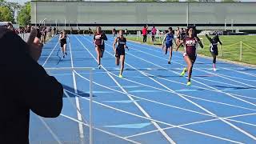
[[[77,37],[76,37],[76,38],[77,38]],[[84,37],[82,37],[82,38],[84,38]],[[77,39],[78,39],[78,38],[77,38]],[[84,38],[84,39],[86,39],[86,38]],[[86,40],[87,40],[87,39],[86,39]],[[79,41],[79,42],[82,44],[82,46],[90,53],[90,50],[88,50],[88,49],[86,48],[86,46],[84,46],[84,44],[83,44],[79,39],[78,39],[78,41]],[[88,40],[87,40],[87,41],[88,41]],[[90,53],[90,55],[91,55],[91,56],[94,58],[94,60],[97,62],[97,59],[94,57],[94,55],[91,54],[91,53]],[[111,54],[110,54],[110,55],[111,55]],[[146,110],[144,110],[144,109],[142,108],[142,106],[140,106],[140,105],[138,104],[138,102],[134,101],[134,98],[130,97],[130,95],[128,94],[128,92],[113,78],[113,76],[112,76],[111,74],[109,74],[109,71],[106,70],[106,68],[105,68],[104,66],[102,66],[102,68],[107,72],[107,74],[110,76],[110,78],[119,86],[119,88],[120,88],[124,93],[126,93],[127,97],[130,98],[130,100],[133,101],[134,105],[138,107],[138,109],[142,112],[142,114],[144,114],[147,118],[151,118],[151,117],[150,117],[150,114],[148,114],[148,113],[146,112]],[[170,143],[172,143],[172,144],[175,144],[174,140],[171,139],[170,136],[169,136],[168,134],[166,134],[165,131],[161,130],[161,127],[158,125],[157,122],[154,122],[154,121],[151,121],[151,122],[153,123],[153,125],[154,125],[158,130],[160,130],[161,134],[166,138],[166,140],[167,140],[168,142],[170,142]]]

